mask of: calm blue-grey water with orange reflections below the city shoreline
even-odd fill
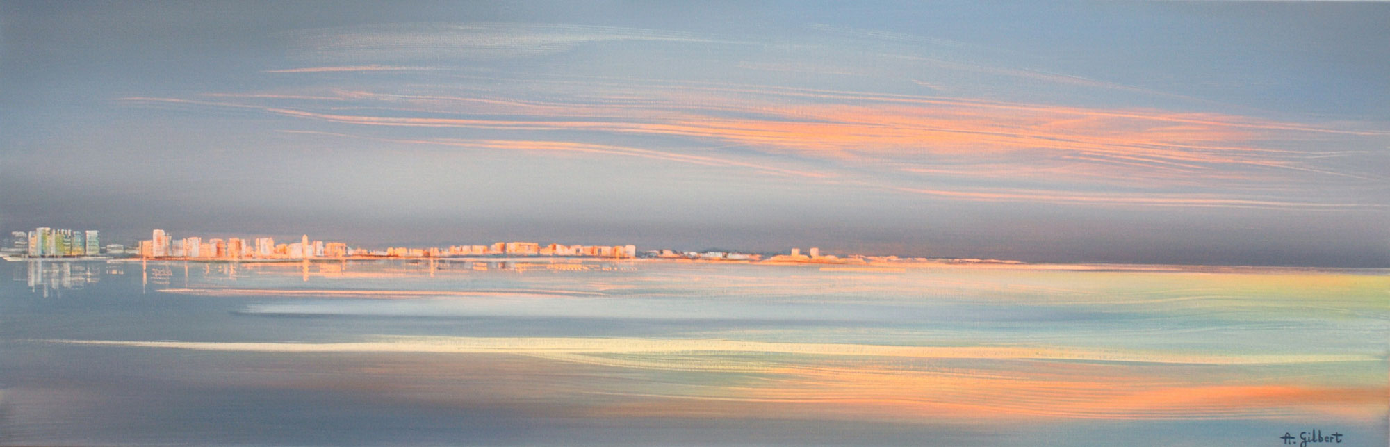
[[[0,273],[0,444],[1387,440],[1386,271],[634,261]]]

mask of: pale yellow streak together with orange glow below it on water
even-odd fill
[[[1194,355],[602,337],[382,337],[352,343],[50,340],[64,344],[357,355],[524,355],[588,371],[602,416],[870,421],[1300,419],[1384,415],[1383,382],[1259,376],[1244,365],[1383,365],[1368,355]],[[569,366],[563,366],[569,365]],[[609,380],[628,378],[624,380]],[[1368,385],[1371,383],[1371,385]],[[532,386],[552,386],[534,383]]]

